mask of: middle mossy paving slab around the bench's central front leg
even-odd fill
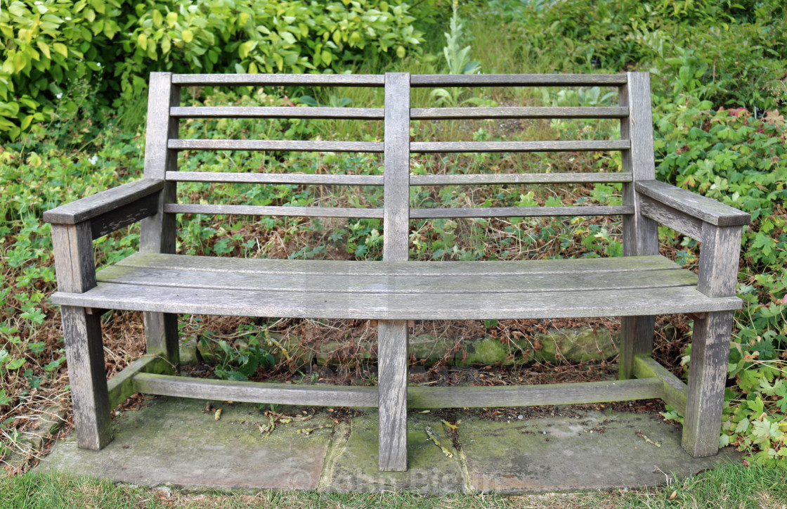
[[[440,418],[410,412],[407,430],[406,472],[380,472],[377,468],[377,411],[367,410],[353,418],[351,429],[334,437],[320,489],[340,492],[381,492],[407,489],[419,493],[447,493],[465,490],[460,455],[443,429]],[[452,457],[446,456],[429,440],[426,427]]]

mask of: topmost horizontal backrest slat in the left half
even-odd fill
[[[190,87],[276,85],[279,87],[382,87],[380,74],[173,74],[172,83]]]

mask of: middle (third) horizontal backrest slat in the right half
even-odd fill
[[[627,139],[578,139],[571,141],[414,141],[413,154],[433,152],[582,152],[627,150]],[[371,150],[369,150],[371,151]]]

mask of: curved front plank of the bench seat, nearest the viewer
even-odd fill
[[[737,297],[711,298],[691,286],[531,293],[267,292],[99,283],[83,294],[56,292],[68,306],[225,314],[249,317],[359,320],[485,320],[586,318],[737,310]]]

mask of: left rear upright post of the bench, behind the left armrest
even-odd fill
[[[145,178],[164,180],[165,173],[178,169],[176,150],[167,148],[167,140],[179,137],[178,119],[169,116],[170,106],[180,105],[180,87],[172,85],[171,72],[150,73],[147,136],[145,144]],[[175,253],[175,214],[164,214],[164,203],[177,198],[176,182],[165,182],[158,204],[158,214],[142,220],[140,251]],[[178,317],[176,314],[143,314],[147,351],[161,355],[172,365],[179,362]]]

